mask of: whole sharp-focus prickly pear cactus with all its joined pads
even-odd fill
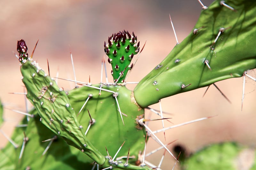
[[[146,137],[144,108],[256,67],[256,3],[225,3],[235,10],[222,1],[204,8],[194,31],[134,91],[125,87],[133,55],[139,52],[134,33],[118,32],[104,43],[114,83],[80,83],[69,92],[28,57],[25,41],[18,41],[22,82],[35,109],[29,112],[28,126],[14,131],[16,148],[8,144],[1,150],[6,158],[1,169],[150,169],[138,156]],[[135,159],[128,163],[122,159],[127,155]]]

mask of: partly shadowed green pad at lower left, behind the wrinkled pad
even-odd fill
[[[27,122],[27,118],[25,117],[21,122],[21,124],[28,123],[28,127],[16,128],[12,134],[12,139],[14,142],[18,143],[20,147],[15,149],[11,143],[8,143],[4,149],[0,150],[1,158],[5,158],[0,161],[1,170],[24,170],[28,167],[30,167],[31,170],[38,169],[38,167],[42,170],[74,170],[81,169],[81,167],[84,167],[84,169],[92,168],[92,159],[85,156],[83,152],[75,147],[68,145],[66,141],[60,137],[53,141],[49,150],[42,156],[42,153],[49,143],[43,143],[42,141],[52,138],[56,134],[40,122],[40,117],[37,115],[36,109],[33,109],[29,113],[36,115],[35,118],[30,119],[30,121]],[[24,137],[23,131],[25,131],[26,136],[28,137],[28,142],[26,143],[23,156],[19,160]],[[130,160],[132,162],[132,159]],[[128,169],[128,167],[124,168],[122,165],[123,164],[119,164],[114,169]],[[101,166],[100,168],[102,169]],[[148,169],[147,167],[141,168],[139,166],[132,166],[131,164],[129,165],[129,168],[134,170]]]

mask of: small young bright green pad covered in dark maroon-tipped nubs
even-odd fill
[[[119,31],[108,37],[104,42],[104,51],[108,55],[108,63],[112,65],[111,74],[116,83],[124,83],[128,70],[132,69],[131,60],[140,51],[137,36],[128,31]]]

